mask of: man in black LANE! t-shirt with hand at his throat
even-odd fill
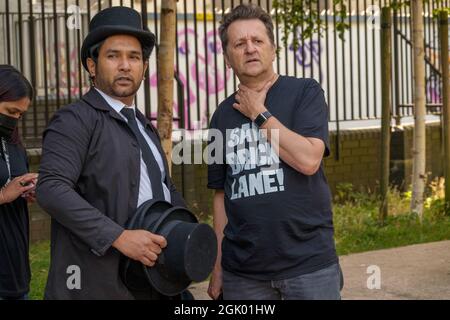
[[[219,28],[239,90],[211,119],[208,187],[215,189],[217,299],[340,299],[323,90],[274,72],[270,15],[240,5]]]

